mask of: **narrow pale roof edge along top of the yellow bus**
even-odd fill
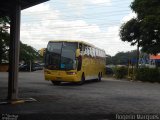
[[[51,40],[51,41],[49,41],[49,42],[78,42],[78,43],[82,43],[82,44],[89,45],[89,46],[91,46],[91,47],[100,49],[100,48],[94,46],[93,44],[88,43],[88,42],[85,42],[85,41],[82,41],[82,40]],[[103,50],[103,49],[100,49],[100,50]],[[103,50],[103,51],[105,51],[105,50]]]

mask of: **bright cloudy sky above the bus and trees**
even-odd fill
[[[120,26],[136,17],[133,0],[50,0],[21,12],[20,40],[35,49],[50,40],[81,40],[106,54],[135,50],[119,37]]]

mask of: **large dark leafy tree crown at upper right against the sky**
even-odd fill
[[[138,44],[147,53],[160,53],[160,1],[134,0],[131,9],[137,14],[120,29],[122,41]]]

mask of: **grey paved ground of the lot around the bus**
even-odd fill
[[[7,73],[0,73],[0,99],[6,98]],[[0,105],[0,120],[7,115],[19,119],[107,120],[116,114],[160,113],[160,84],[103,78],[79,86],[64,83],[53,86],[43,72],[19,73],[19,97],[37,102]],[[160,118],[160,117],[159,117]]]

